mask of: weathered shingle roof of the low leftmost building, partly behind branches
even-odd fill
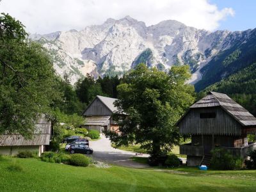
[[[43,115],[35,124],[32,140],[26,140],[21,134],[0,135],[0,146],[49,145],[51,139],[51,123]]]

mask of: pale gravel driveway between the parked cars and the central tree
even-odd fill
[[[118,164],[132,168],[146,168],[147,164],[134,162],[130,157],[148,157],[147,154],[136,156],[134,152],[127,152],[111,147],[111,142],[103,134],[100,134],[100,140],[90,141],[90,147],[93,148],[92,157],[96,161],[103,161],[109,164]]]

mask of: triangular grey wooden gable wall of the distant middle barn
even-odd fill
[[[88,106],[84,112],[85,116],[110,116],[112,112],[98,99],[93,100],[92,104]]]

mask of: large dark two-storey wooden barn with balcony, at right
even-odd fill
[[[180,134],[191,136],[191,143],[180,145],[188,166],[208,164],[211,150],[223,148],[245,159],[256,143],[248,143],[247,134],[256,132],[256,118],[225,94],[209,92],[198,100],[177,122]]]

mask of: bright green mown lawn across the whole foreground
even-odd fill
[[[15,161],[21,171],[8,170]],[[4,157],[0,191],[255,191],[256,171],[75,167]]]

